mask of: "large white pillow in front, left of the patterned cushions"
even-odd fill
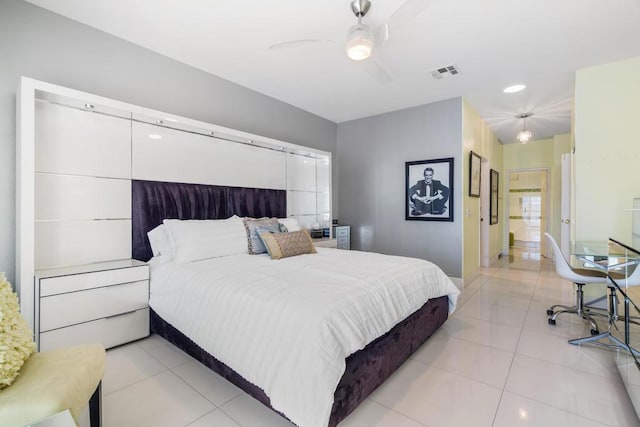
[[[249,253],[242,218],[236,215],[222,220],[165,219],[164,225],[176,263]]]

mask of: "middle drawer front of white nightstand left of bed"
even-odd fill
[[[40,331],[139,310],[148,301],[146,280],[41,298]]]

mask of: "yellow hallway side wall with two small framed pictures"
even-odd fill
[[[480,199],[469,197],[469,153],[480,155],[489,160],[482,166],[488,166],[500,173],[500,199],[498,200],[498,224],[489,226],[489,255],[493,258],[502,252],[504,216],[504,174],[502,167],[503,146],[491,132],[489,126],[480,118],[478,113],[463,100],[462,103],[462,167],[463,182],[463,265],[462,277],[465,282],[472,279],[480,268]],[[489,219],[487,218],[487,221]]]

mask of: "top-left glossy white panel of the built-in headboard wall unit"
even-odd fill
[[[131,178],[131,122],[36,103],[36,172]]]

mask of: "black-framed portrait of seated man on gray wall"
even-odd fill
[[[405,219],[453,222],[453,184],[453,157],[405,162]]]

